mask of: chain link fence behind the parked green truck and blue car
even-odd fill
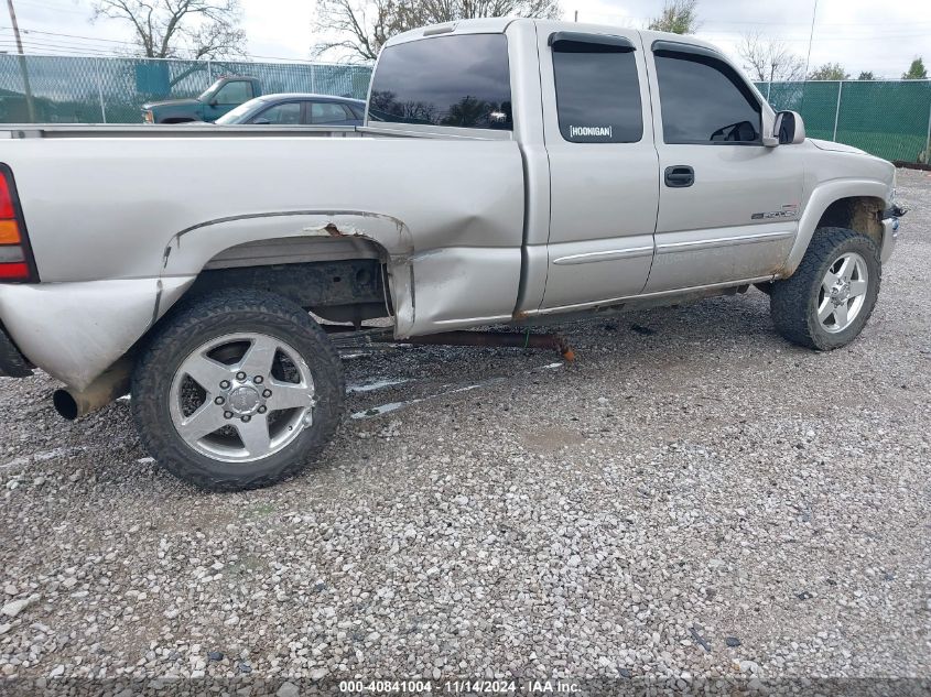
[[[365,99],[371,68],[0,54],[0,123],[140,123],[142,104],[196,97],[223,75],[257,77],[264,94],[315,92]]]

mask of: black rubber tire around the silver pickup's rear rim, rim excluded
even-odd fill
[[[196,451],[178,434],[170,411],[172,380],[205,341],[260,331],[288,342],[313,375],[313,423],[283,449],[252,462],[226,462]],[[286,479],[310,465],[343,414],[343,366],[326,334],[297,305],[264,291],[232,288],[177,308],[163,320],[132,374],[132,416],[142,444],[173,475],[210,491],[239,491]]]

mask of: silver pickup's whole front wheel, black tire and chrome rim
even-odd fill
[[[853,341],[879,294],[876,243],[844,228],[815,231],[795,273],[772,283],[770,313],[777,331],[809,348],[829,351]]]

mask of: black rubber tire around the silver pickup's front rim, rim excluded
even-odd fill
[[[866,262],[868,277],[864,305],[854,322],[841,331],[830,333],[818,319],[821,282],[842,254],[856,252]],[[881,264],[876,243],[845,228],[819,228],[795,273],[772,283],[769,308],[776,330],[792,344],[830,351],[853,341],[863,330],[876,306],[881,282]]]

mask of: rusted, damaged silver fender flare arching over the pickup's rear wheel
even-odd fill
[[[413,237],[402,220],[389,215],[364,210],[291,210],[208,220],[169,240],[161,276],[196,277],[210,259],[231,247],[299,237],[358,237],[385,250],[396,314],[394,333],[398,337],[407,336],[414,324]],[[156,308],[158,316],[170,306],[162,303]]]

